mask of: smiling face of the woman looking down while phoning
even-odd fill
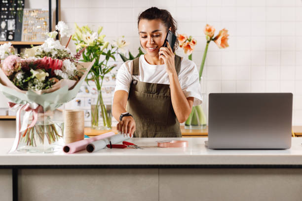
[[[147,54],[151,57],[159,57],[159,48],[163,45],[167,28],[161,20],[142,19],[139,22],[138,30],[140,41]]]

